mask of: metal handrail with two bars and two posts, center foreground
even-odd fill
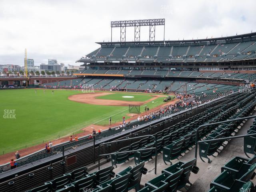
[[[128,140],[134,140],[134,139],[139,139],[139,138],[145,138],[145,137],[152,137],[155,140],[155,148],[147,148],[147,149],[138,149],[138,150],[132,150],[132,151],[124,151],[124,152],[116,152],[116,153],[109,153],[109,154],[100,154],[100,146],[101,145],[106,145],[110,143],[117,143],[117,142],[122,142],[122,141],[128,141]],[[137,152],[137,151],[146,151],[146,150],[154,150],[155,149],[155,174],[156,174],[156,165],[157,165],[157,139],[153,135],[144,135],[144,136],[138,136],[134,138],[128,138],[128,139],[122,139],[122,140],[117,140],[117,141],[111,141],[111,142],[106,142],[106,143],[100,143],[98,146],[98,170],[100,170],[100,156],[108,156],[108,155],[114,155],[114,154],[124,154],[124,153],[131,153],[131,152]]]

